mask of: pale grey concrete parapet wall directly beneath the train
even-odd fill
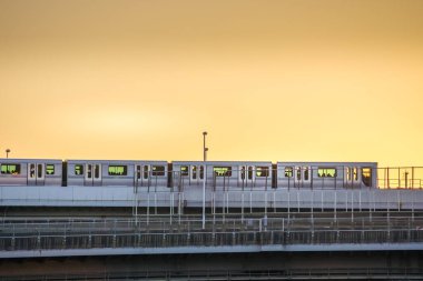
[[[167,208],[184,212],[203,207],[200,188],[189,192],[138,190],[132,187],[0,187],[0,207]],[[205,205],[218,212],[250,210],[423,210],[423,189],[268,189],[206,190]]]

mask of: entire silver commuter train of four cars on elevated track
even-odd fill
[[[155,192],[376,189],[377,162],[0,159],[0,185],[134,187]]]

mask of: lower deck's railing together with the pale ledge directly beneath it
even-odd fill
[[[423,250],[421,217],[3,220],[0,258]]]

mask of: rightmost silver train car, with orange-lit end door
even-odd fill
[[[277,162],[277,188],[377,188],[376,162]]]

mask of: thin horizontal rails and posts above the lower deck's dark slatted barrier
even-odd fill
[[[341,213],[336,217],[332,213],[281,214],[282,217],[206,217],[203,220],[198,215],[185,215],[183,218],[169,218],[166,215],[130,219],[90,219],[90,218],[35,218],[19,219],[4,218],[0,221],[0,234],[6,237],[19,235],[72,235],[72,234],[125,234],[125,233],[161,233],[181,234],[195,232],[266,232],[266,231],[391,231],[391,230],[419,230],[423,231],[423,213],[393,212],[393,213]],[[288,215],[288,217],[283,217]]]

